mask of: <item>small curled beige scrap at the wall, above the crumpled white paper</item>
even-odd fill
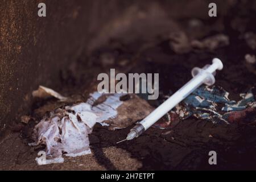
[[[61,94],[55,92],[52,89],[46,88],[44,86],[39,86],[38,90],[34,90],[32,92],[33,97],[39,97],[39,98],[48,98],[48,97],[55,97],[59,99],[60,101],[67,101],[67,97],[61,96]]]

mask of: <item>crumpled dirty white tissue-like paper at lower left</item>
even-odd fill
[[[89,133],[90,129],[78,122],[71,113],[58,111],[35,126],[33,138],[36,142],[33,145],[46,144],[46,155],[53,158],[59,158],[62,154],[90,154]]]

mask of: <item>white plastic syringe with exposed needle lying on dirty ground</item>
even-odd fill
[[[157,107],[152,113],[150,113],[146,118],[139,122],[133,129],[130,130],[130,133],[127,135],[125,140],[131,140],[135,137],[139,137],[144,131],[146,131],[150,126],[154,125],[156,121],[163,117],[168,111],[174,108],[179,102],[184,100],[189,94],[191,94],[195,89],[200,85],[213,85],[215,82],[215,71],[221,70],[223,64],[220,59],[214,58],[212,60],[212,65],[205,65],[203,69],[193,68],[192,76],[193,78],[187,82],[182,88],[177,90],[168,100],[163,102],[159,107]],[[122,140],[124,141],[124,140]],[[120,141],[120,142],[122,142]],[[119,142],[117,142],[119,143]]]

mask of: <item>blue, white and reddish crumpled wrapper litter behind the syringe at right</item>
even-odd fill
[[[213,123],[233,123],[239,122],[245,118],[247,114],[256,111],[256,102],[252,93],[253,88],[247,93],[240,94],[240,101],[230,101],[229,93],[220,86],[200,86],[185,100],[176,105],[175,109],[169,112],[170,117],[175,121],[170,123],[171,126],[164,126],[161,123],[156,124],[156,127],[167,129],[172,127],[172,123],[179,122],[182,119],[191,117],[192,115],[199,119],[206,119]],[[163,122],[162,122],[163,123]],[[164,127],[163,127],[164,126]]]

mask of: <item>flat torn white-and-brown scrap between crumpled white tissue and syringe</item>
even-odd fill
[[[145,118],[154,110],[147,101],[136,94],[129,94],[129,99],[121,101],[126,95],[94,92],[86,103],[66,106],[65,109],[75,111],[89,127],[98,122],[102,126],[108,126],[109,130],[122,129]]]

